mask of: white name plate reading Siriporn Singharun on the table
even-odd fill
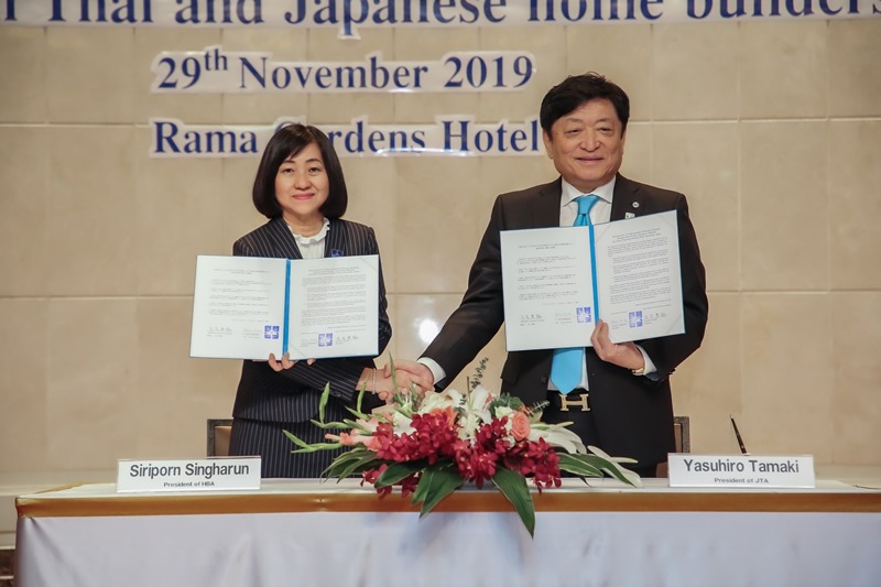
[[[120,459],[117,492],[260,489],[260,457]]]

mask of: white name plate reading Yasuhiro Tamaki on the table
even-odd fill
[[[670,487],[813,488],[812,455],[670,454]]]

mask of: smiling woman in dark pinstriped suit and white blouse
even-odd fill
[[[269,221],[243,236],[232,253],[246,257],[315,259],[379,254],[373,229],[344,220],[348,193],[334,146],[320,130],[303,124],[281,128],[267,144],[257,171],[253,203]],[[379,273],[379,354],[392,335],[387,314],[382,269]],[[290,361],[246,360],[232,409],[230,455],[262,457],[262,477],[318,477],[339,452],[292,454],[290,431],[307,443],[324,442],[325,431],[309,423],[318,416],[318,400],[330,383],[325,417],[349,417],[362,385],[362,410],[391,391],[370,357]]]

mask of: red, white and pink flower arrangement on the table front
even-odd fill
[[[529,407],[518,398],[485,388],[485,366],[486,359],[468,381],[467,393],[453,389],[398,393],[391,403],[370,414],[361,412],[362,389],[356,409],[349,409],[355,417],[342,422],[324,421],[327,385],[319,421],[313,423],[340,432],[328,433],[329,442],[318,444],[284,433],[298,447],[294,453],[351,447],[334,459],[324,475],[344,479],[360,474],[361,482],[371,483],[380,497],[400,487],[403,497],[412,496],[412,503],[421,504],[421,517],[466,481],[478,488],[491,481],[511,502],[530,535],[535,530],[535,509],[527,479],[540,493],[561,486],[562,470],[583,479],[609,475],[641,487],[639,476],[619,465],[632,459],[585,447],[566,428],[568,423],[542,422],[541,409],[546,404]]]

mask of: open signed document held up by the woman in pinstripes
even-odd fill
[[[189,356],[374,356],[379,258],[196,258]]]

